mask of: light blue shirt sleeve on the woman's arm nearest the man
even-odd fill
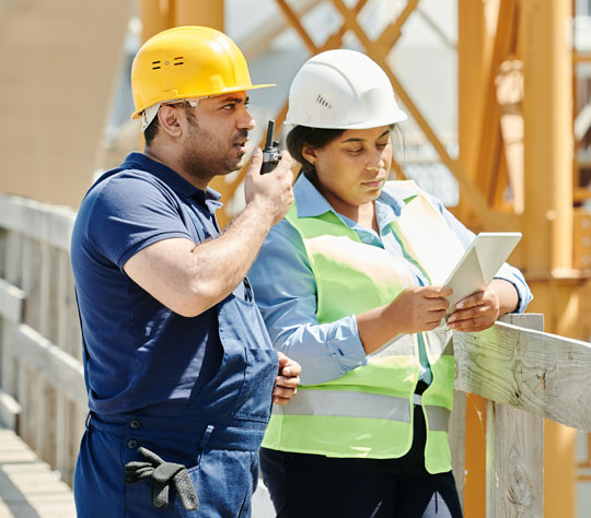
[[[355,315],[318,323],[314,274],[300,235],[287,221],[271,228],[248,279],[275,349],[300,363],[303,385],[367,364]]]

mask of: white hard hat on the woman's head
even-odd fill
[[[336,49],[310,58],[289,90],[288,125],[364,129],[406,120],[380,66],[355,50]]]

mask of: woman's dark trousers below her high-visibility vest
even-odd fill
[[[262,448],[260,468],[277,518],[461,518],[451,472],[425,469],[425,419],[398,459],[339,459]]]

